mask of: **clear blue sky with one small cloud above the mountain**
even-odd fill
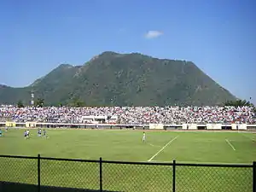
[[[256,103],[256,1],[2,0],[0,84],[31,84],[61,63],[112,50],[193,61]]]

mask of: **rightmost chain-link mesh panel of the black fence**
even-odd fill
[[[252,166],[186,165],[176,171],[176,191],[253,191]]]

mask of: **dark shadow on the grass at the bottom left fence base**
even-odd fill
[[[0,191],[1,192],[15,192],[15,191],[37,192],[38,185],[26,184],[26,183],[0,182]],[[100,190],[97,190],[97,189],[61,188],[61,187],[52,187],[52,186],[41,186],[40,188],[40,192],[99,192],[99,191]],[[102,190],[102,191],[118,192],[118,191],[107,191],[107,190]]]

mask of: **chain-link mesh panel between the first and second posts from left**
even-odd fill
[[[41,191],[59,189],[99,189],[99,162],[96,160],[52,160],[40,161]],[[45,187],[47,186],[47,187]],[[62,190],[60,190],[62,191]]]

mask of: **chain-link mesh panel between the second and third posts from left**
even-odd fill
[[[102,185],[108,191],[172,191],[172,166],[102,162]]]

